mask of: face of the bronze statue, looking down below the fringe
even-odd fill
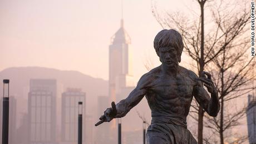
[[[178,66],[178,52],[174,47],[162,47],[159,48],[160,61],[167,67],[175,68]]]

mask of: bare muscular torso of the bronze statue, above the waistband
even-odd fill
[[[163,75],[161,72],[153,75],[154,80],[146,93],[152,117],[180,117],[186,121],[195,85],[188,70],[183,68],[176,76]]]

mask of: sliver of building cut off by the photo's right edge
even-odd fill
[[[256,97],[248,95],[247,126],[249,143],[256,143]]]

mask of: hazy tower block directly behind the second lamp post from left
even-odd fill
[[[61,105],[61,125],[62,125],[62,142],[74,143],[77,142],[78,132],[78,102],[83,103],[83,123],[82,123],[82,137],[85,141],[86,137],[86,115],[85,115],[85,92],[79,88],[68,88],[66,92],[62,93]]]

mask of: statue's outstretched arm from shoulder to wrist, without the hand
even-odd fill
[[[124,117],[132,107],[136,106],[142,100],[149,88],[149,83],[150,76],[149,73],[146,73],[140,78],[136,88],[130,95],[116,104],[117,114],[115,118]]]

